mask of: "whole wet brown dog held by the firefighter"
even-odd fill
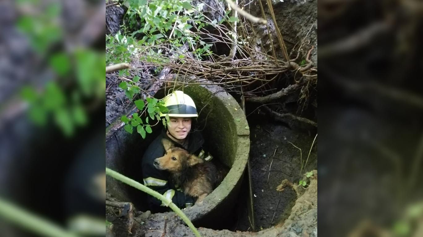
[[[166,153],[154,160],[154,166],[159,170],[168,170],[175,185],[181,187],[186,195],[197,198],[195,204],[203,201],[217,182],[215,165],[174,147],[168,139],[162,139],[162,144]]]

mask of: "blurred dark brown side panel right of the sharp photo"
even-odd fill
[[[422,236],[423,3],[318,5],[319,234]]]

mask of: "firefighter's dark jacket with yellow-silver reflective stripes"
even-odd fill
[[[165,155],[165,149],[162,145],[162,139],[168,139],[173,142],[176,147],[183,148],[179,143],[171,140],[166,131],[163,130],[162,133],[154,139],[153,142],[148,146],[146,152],[144,153],[142,160],[142,170],[143,170],[143,181],[144,185],[147,187],[156,190],[162,195],[165,195],[167,198],[172,198],[172,202],[176,204],[179,208],[185,208],[187,206],[192,206],[195,200],[190,196],[185,196],[184,192],[180,187],[175,187],[171,180],[169,180],[170,173],[165,170],[158,170],[154,167],[154,159],[159,158]],[[188,152],[198,156],[204,149],[204,139],[200,132],[194,131],[190,133],[187,137],[188,139]],[[167,212],[169,208],[162,204],[157,198],[154,198],[151,195],[148,195],[147,198],[148,207],[151,212]]]

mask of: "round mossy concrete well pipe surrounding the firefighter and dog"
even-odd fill
[[[203,201],[203,204],[184,209],[196,226],[221,229],[233,218],[237,195],[243,180],[250,151],[250,130],[244,112],[236,100],[219,86],[185,86],[181,90],[195,101],[201,129],[214,159],[230,167],[222,183]],[[155,98],[162,98],[162,89]],[[151,122],[150,122],[151,123]],[[159,123],[161,124],[161,123]],[[153,127],[153,133],[142,139],[140,134],[129,134],[120,129],[106,141],[106,166],[142,183],[141,159],[151,141],[158,136],[162,125]],[[132,202],[140,211],[146,211],[146,194],[111,177],[107,190],[121,201]]]

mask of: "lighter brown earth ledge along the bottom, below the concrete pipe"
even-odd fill
[[[308,181],[307,190],[299,190],[299,198],[292,207],[291,215],[284,223],[258,232],[212,230],[198,228],[201,236],[205,237],[316,237],[317,236],[317,170]],[[115,212],[113,208],[106,207],[108,216]],[[115,214],[118,215],[118,214]],[[174,213],[159,213],[151,215],[142,213],[133,219],[132,232],[128,232],[127,219],[115,218],[113,225],[107,231],[107,237],[114,236],[146,236],[146,237],[182,237],[194,236],[189,229]]]

